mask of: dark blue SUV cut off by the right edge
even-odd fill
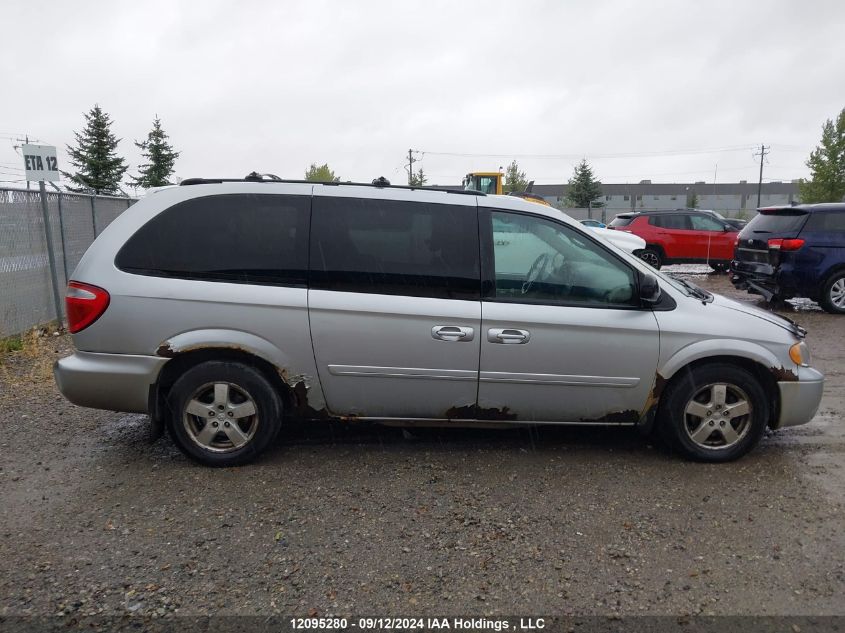
[[[809,297],[845,314],[845,204],[760,209],[739,234],[731,281],[768,301]]]

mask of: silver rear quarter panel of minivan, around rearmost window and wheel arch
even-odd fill
[[[169,357],[235,348],[275,365],[289,384],[305,382],[309,404],[323,403],[308,323],[306,288],[153,277],[116,268],[126,240],[166,208],[210,193],[310,195],[311,185],[250,183],[176,187],[142,199],[92,244],[72,278],[106,289],[106,312],[73,336],[88,352]],[[292,385],[293,386],[293,385]]]

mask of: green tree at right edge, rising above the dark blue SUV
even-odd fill
[[[822,141],[807,159],[809,181],[799,184],[801,202],[841,202],[845,200],[845,108],[822,126]]]

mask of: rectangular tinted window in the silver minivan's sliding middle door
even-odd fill
[[[480,298],[476,207],[314,198],[310,287]]]

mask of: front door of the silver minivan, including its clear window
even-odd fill
[[[658,358],[628,263],[563,222],[483,210],[479,417],[634,422]]]

